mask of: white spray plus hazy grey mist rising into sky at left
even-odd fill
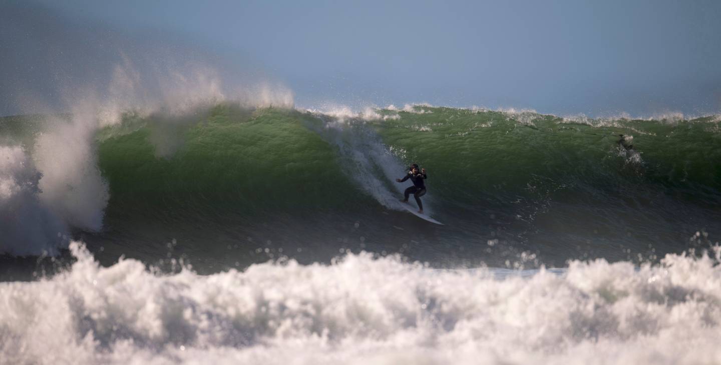
[[[176,40],[83,25],[33,4],[0,13],[0,44],[13,49],[0,56],[0,113],[35,115],[0,126],[1,253],[57,255],[71,230],[103,229],[110,195],[95,138],[123,115],[160,120],[152,141],[169,156],[181,142],[172,131],[219,102],[293,106],[282,84]]]

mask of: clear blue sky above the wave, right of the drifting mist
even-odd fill
[[[162,34],[260,65],[307,107],[430,102],[588,115],[721,110],[721,1],[42,4],[73,22],[138,37]]]

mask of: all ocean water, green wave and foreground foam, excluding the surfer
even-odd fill
[[[280,101],[0,118],[0,364],[721,362],[721,118]]]

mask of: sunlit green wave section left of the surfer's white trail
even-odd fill
[[[99,133],[99,165],[114,201],[205,201],[245,210],[332,206],[339,202],[327,201],[328,193],[348,182],[331,146],[304,128],[301,116],[219,105],[190,126],[126,118]],[[168,145],[177,150],[166,156]]]

